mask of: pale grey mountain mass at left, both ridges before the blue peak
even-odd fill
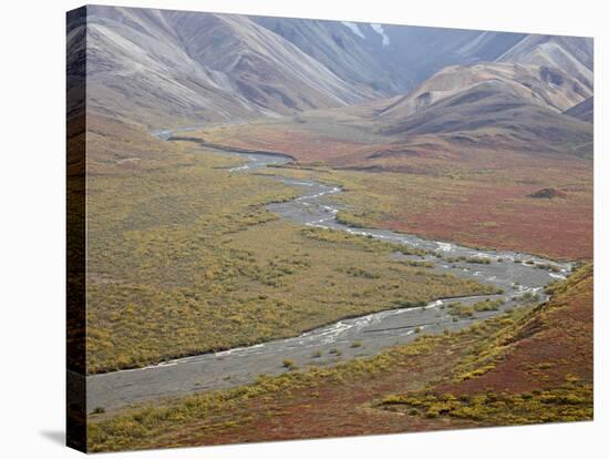
[[[86,22],[87,106],[102,114],[165,126],[375,96],[244,16],[94,6]]]

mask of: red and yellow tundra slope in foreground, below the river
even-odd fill
[[[461,332],[422,335],[334,367],[94,415],[89,446],[102,451],[588,420],[591,283],[586,265],[554,284],[547,303]]]

